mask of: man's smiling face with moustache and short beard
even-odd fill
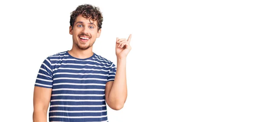
[[[81,15],[76,18],[73,29],[70,26],[73,44],[81,50],[92,47],[96,38],[99,38],[100,32],[101,29],[98,31],[98,23],[96,21],[89,21]]]

